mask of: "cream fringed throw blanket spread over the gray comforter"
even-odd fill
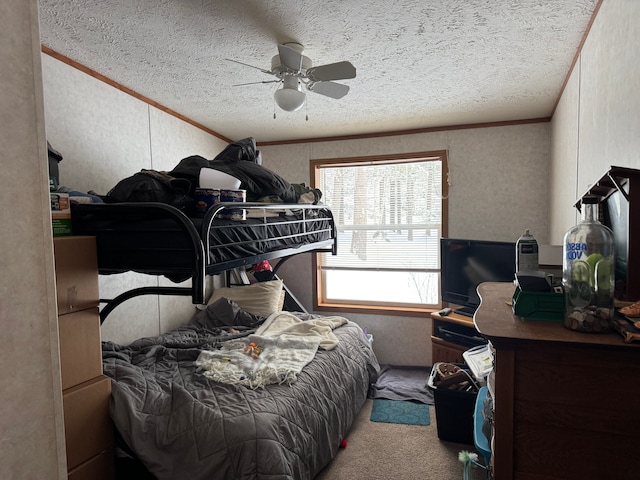
[[[335,316],[303,321],[288,312],[276,312],[255,334],[225,342],[220,350],[200,352],[195,364],[217,382],[250,388],[291,384],[318,348],[331,350],[337,345],[332,330],[347,321]],[[250,343],[261,350],[257,358],[245,351]]]

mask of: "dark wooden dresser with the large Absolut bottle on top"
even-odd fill
[[[495,349],[494,478],[640,477],[640,345],[525,321],[483,283],[474,322]]]

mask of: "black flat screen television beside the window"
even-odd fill
[[[476,291],[482,282],[512,282],[516,244],[488,240],[440,239],[442,301],[460,305],[456,313],[473,316],[480,305]]]

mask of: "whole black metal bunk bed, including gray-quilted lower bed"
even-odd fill
[[[172,331],[130,345],[102,343],[119,452],[152,475],[143,478],[311,480],[337,454],[377,378],[371,343],[346,318],[310,315],[299,305],[257,315],[231,298],[205,298],[207,276],[268,260],[277,279],[294,255],[336,253],[331,210],[317,197],[302,201],[251,161],[255,153],[247,139],[219,155],[226,160],[192,156],[169,172],[192,185],[200,168],[214,166],[242,178],[250,201],[217,203],[203,218],[159,201],[72,204],[74,235],[96,238],[100,274],[190,280],[101,299],[101,322],[139,295],[186,295],[201,305]],[[291,348],[304,360],[296,368]]]

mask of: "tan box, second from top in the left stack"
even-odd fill
[[[98,308],[58,317],[62,390],[102,375]]]

